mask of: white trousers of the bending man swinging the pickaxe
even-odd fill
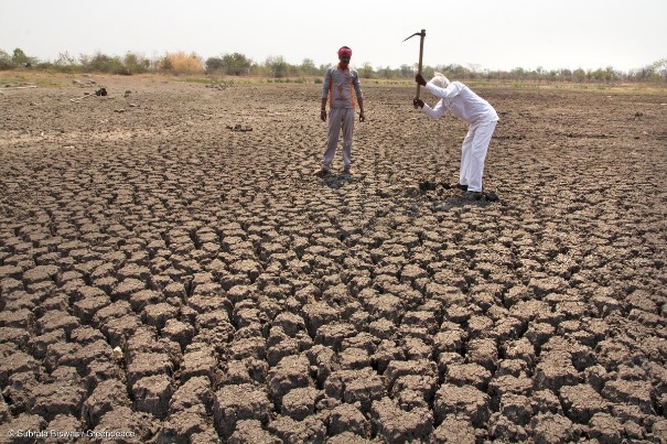
[[[490,121],[471,126],[465,139],[463,139],[459,183],[467,185],[467,191],[482,191],[484,161],[496,123],[497,121]]]

